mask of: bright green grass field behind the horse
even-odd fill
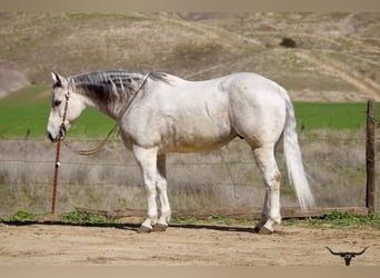
[[[44,137],[50,110],[49,88],[30,86],[0,100],[0,138]],[[380,106],[377,106],[377,119]],[[366,126],[367,103],[294,102],[298,128],[356,130]],[[70,137],[103,137],[113,120],[94,109],[86,109],[69,131]]]

